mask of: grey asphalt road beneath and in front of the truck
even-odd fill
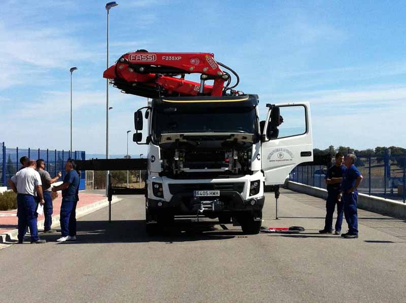
[[[232,224],[204,221],[149,238],[140,196],[114,204],[112,223],[107,214],[105,208],[79,219],[77,242],[0,250],[0,301],[406,300],[403,220],[359,211],[360,238],[320,235],[323,201],[289,191],[281,195],[280,220],[267,195],[263,225],[303,226],[300,234],[245,236]]]

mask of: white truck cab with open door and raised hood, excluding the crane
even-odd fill
[[[266,106],[262,122],[252,94],[153,98],[134,114],[133,140],[148,145],[148,233],[179,215],[232,218],[259,233],[264,186],[313,161],[309,104]]]

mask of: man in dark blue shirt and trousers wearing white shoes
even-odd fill
[[[76,205],[78,203],[79,175],[76,172],[74,160],[65,163],[66,175],[63,183],[52,188],[53,192],[62,190],[62,204],[60,206],[60,228],[62,237],[58,242],[76,240]]]

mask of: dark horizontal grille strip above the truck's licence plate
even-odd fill
[[[169,184],[169,191],[171,195],[176,194],[192,194],[193,191],[235,191],[243,193],[244,182],[238,183],[187,183],[187,184]]]

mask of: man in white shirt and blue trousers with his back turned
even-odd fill
[[[37,202],[38,195],[40,204],[44,205],[42,194],[42,182],[35,160],[28,161],[28,167],[18,171],[9,180],[9,185],[17,194],[17,217],[18,217],[18,243],[24,242],[27,225],[31,232],[31,243],[42,244],[45,240],[40,240],[37,230]]]

